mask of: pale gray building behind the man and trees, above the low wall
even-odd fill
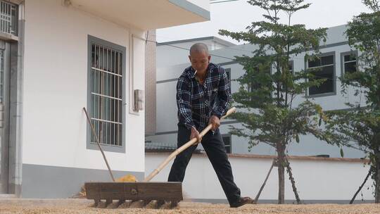
[[[355,69],[356,58],[349,57],[350,55],[357,56],[357,51],[351,50],[348,46],[346,37],[343,32],[346,30],[345,25],[331,27],[327,30],[327,42],[321,44],[320,52],[322,54],[322,60],[327,61],[328,65],[322,65],[325,67],[323,74],[328,80],[319,88],[311,89],[308,94],[298,97],[294,101],[297,105],[300,101],[305,99],[310,99],[315,103],[319,103],[324,111],[334,110],[334,109],[346,109],[346,102],[359,99],[353,96],[353,93],[342,94],[341,84],[338,77],[348,70]],[[176,145],[177,142],[177,104],[175,101],[176,84],[177,78],[183,72],[184,68],[190,65],[188,49],[192,44],[198,41],[205,41],[201,39],[192,39],[190,42],[185,42],[182,44],[183,49],[175,49],[172,46],[162,47],[161,45],[157,47],[157,65],[162,65],[160,60],[166,58],[166,61],[174,57],[181,56],[184,60],[181,63],[175,65],[161,66],[157,68],[157,127],[156,134],[151,137],[147,137],[147,141],[153,143],[164,143]],[[181,41],[179,41],[181,42]],[[170,44],[177,44],[176,42],[170,42]],[[207,43],[206,43],[207,44]],[[165,46],[165,43],[164,43]],[[180,44],[177,44],[180,46]],[[208,44],[210,46],[210,44]],[[212,47],[212,46],[211,46]],[[167,49],[172,50],[168,53]],[[232,93],[237,92],[240,85],[236,82],[236,79],[243,75],[244,70],[242,65],[234,61],[234,56],[247,55],[251,56],[252,51],[255,49],[255,45],[252,44],[242,44],[236,46],[227,46],[221,49],[210,49],[211,62],[217,63],[222,66],[227,71],[232,84]],[[304,55],[300,54],[298,56],[291,57],[291,68],[294,72],[299,70],[304,70],[307,68],[308,63],[305,62]],[[163,61],[165,61],[163,59]],[[185,63],[182,63],[186,61]],[[177,61],[175,61],[177,62]],[[164,63],[165,64],[165,63]],[[311,68],[311,67],[310,67]],[[350,92],[353,92],[351,90]],[[365,97],[362,97],[362,104],[365,105]],[[227,143],[227,150],[230,153],[252,153],[260,155],[274,155],[275,149],[267,146],[266,144],[259,144],[254,146],[251,151],[248,151],[248,140],[242,137],[231,136],[229,132],[229,125],[234,125],[235,127],[241,127],[239,122],[234,120],[226,120],[222,122],[220,127],[221,133],[224,136],[225,142]],[[302,144],[292,142],[289,145],[288,153],[293,156],[319,156],[327,155],[330,157],[339,158],[340,152],[336,146],[330,146],[323,141],[319,141],[312,136],[302,136],[300,141]],[[346,158],[363,158],[364,153],[357,151],[355,149],[344,148],[344,153]]]

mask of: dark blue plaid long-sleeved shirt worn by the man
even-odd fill
[[[231,100],[231,87],[227,73],[213,63],[208,64],[203,84],[196,80],[195,70],[186,68],[177,82],[179,124],[198,131],[208,125],[212,115],[221,118]]]

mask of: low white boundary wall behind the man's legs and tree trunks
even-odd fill
[[[168,155],[169,153],[146,153],[146,172],[153,171]],[[265,180],[272,159],[230,156],[229,161],[241,195],[254,198]],[[289,161],[301,200],[350,200],[368,172],[368,167],[363,167],[362,162],[307,159]],[[167,181],[171,165],[172,162],[152,181]],[[294,200],[289,176],[285,177],[285,199]],[[374,200],[371,184],[372,180],[368,180],[361,191],[365,200]],[[191,158],[182,188],[184,196],[189,199],[226,199],[215,171],[204,154],[194,154]],[[273,168],[260,199],[276,200],[277,194],[277,168]],[[356,199],[360,200],[361,196]]]

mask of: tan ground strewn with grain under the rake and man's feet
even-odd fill
[[[303,213],[303,214],[380,214],[380,204],[363,203],[355,205],[310,204],[278,205],[258,204],[245,205],[240,208],[229,208],[227,204],[181,202],[172,210],[148,208],[92,208],[93,201],[86,199],[0,199],[0,213]]]

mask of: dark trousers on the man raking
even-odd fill
[[[190,140],[191,130],[184,125],[178,125],[177,146],[178,148]],[[224,194],[227,196],[229,203],[234,203],[240,198],[240,189],[234,183],[231,164],[229,163],[222,135],[219,129],[208,132],[202,138],[201,144],[207,153],[213,168],[217,174],[217,178],[222,184]],[[172,168],[170,169],[168,182],[182,182],[186,171],[187,164],[190,161],[196,146],[190,146],[188,149],[179,153],[175,158]]]

